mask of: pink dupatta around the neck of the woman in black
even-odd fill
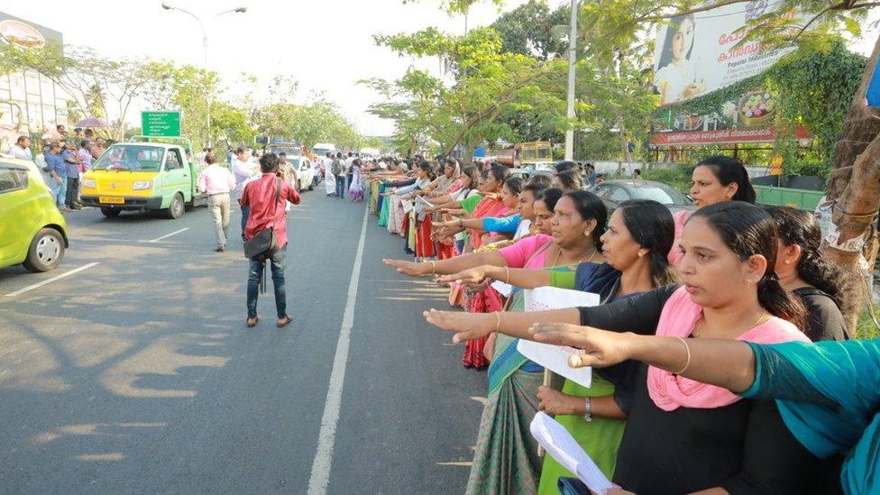
[[[666,301],[656,335],[687,338],[700,318],[702,307],[691,300],[684,287],[676,290]],[[739,335],[737,340],[756,344],[783,342],[810,342],[792,323],[770,316],[763,324]],[[740,397],[729,390],[690,380],[654,366],[648,367],[647,390],[655,405],[665,411],[677,408],[721,408],[738,401]]]

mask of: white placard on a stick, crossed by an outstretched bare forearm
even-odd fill
[[[545,311],[548,309],[562,309],[564,307],[599,305],[599,294],[581,292],[580,290],[539,287],[537,289],[527,289],[525,294],[526,311]],[[517,350],[546,369],[569,380],[573,380],[584,387],[590,387],[592,383],[591,368],[572,368],[568,365],[568,356],[580,352],[573,347],[539,344],[520,339],[517,344]]]

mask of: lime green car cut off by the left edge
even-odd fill
[[[0,268],[52,270],[68,246],[67,222],[36,164],[0,158]]]

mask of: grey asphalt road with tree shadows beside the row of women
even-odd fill
[[[0,270],[0,492],[463,491],[485,373],[420,316],[445,291],[382,265],[405,255],[373,216],[349,290],[364,218],[304,193],[288,218],[295,320],[280,330],[271,289],[244,327],[241,243],[214,252],[204,207],[68,214],[58,270]],[[322,428],[340,384],[338,423],[331,406]],[[332,463],[315,462],[319,435]]]

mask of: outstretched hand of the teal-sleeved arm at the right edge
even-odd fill
[[[604,368],[626,361],[630,358],[630,342],[636,337],[567,323],[538,323],[532,325],[529,332],[535,336],[535,342],[581,349],[582,353],[568,358],[568,365],[572,368]]]

